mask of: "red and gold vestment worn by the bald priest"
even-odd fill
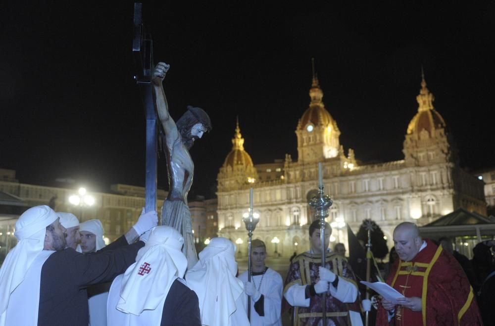
[[[394,265],[387,284],[405,297],[420,297],[421,311],[396,306],[396,326],[483,325],[469,280],[455,258],[426,240],[427,246],[410,261]],[[380,306],[376,325],[389,325]]]

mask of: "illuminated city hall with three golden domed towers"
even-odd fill
[[[308,199],[318,187],[322,162],[324,190],[333,199],[328,222],[331,241],[347,244],[348,224],[354,233],[364,219],[377,222],[389,247],[396,225],[430,223],[457,208],[486,215],[483,182],[459,168],[446,123],[433,106],[423,77],[416,96],[418,112],[405,134],[404,159],[358,164],[352,149],[340,144],[337,122],[323,104],[323,91],[313,77],[310,104],[297,122],[297,160],[254,165],[244,149],[239,123],[232,150],[218,173],[218,233],[237,242],[246,253],[247,231],[242,217],[254,188],[254,213],[259,223],[253,238],[268,245],[269,254],[284,257],[308,250]],[[331,247],[333,247],[331,242]]]

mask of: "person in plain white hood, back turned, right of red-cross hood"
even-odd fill
[[[198,295],[201,325],[249,326],[244,283],[236,278],[235,253],[236,246],[229,239],[213,238],[186,273],[187,285]]]

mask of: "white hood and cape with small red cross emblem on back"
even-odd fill
[[[106,305],[109,326],[160,325],[170,288],[176,279],[182,281],[186,272],[183,243],[180,233],[171,227],[151,230],[136,263],[112,282]]]

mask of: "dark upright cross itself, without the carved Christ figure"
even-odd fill
[[[144,35],[143,4],[134,3],[134,38],[132,52],[136,65],[134,79],[139,86],[146,111],[146,182],[145,211],[156,210],[157,174],[157,123],[151,87],[153,69],[153,41],[151,35]]]

